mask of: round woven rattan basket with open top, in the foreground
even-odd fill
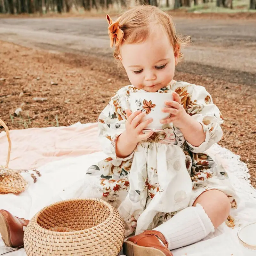
[[[123,242],[122,217],[101,199],[74,199],[51,204],[30,220],[24,234],[27,256],[116,256]]]

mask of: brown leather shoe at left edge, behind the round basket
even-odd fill
[[[0,210],[0,233],[4,244],[12,248],[23,247],[23,227],[28,226],[29,220],[20,219],[10,212]]]

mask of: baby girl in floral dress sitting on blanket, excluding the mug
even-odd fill
[[[214,232],[236,207],[227,173],[204,153],[221,139],[223,118],[204,87],[173,80],[189,38],[177,35],[167,13],[137,6],[107,20],[114,57],[131,85],[118,90],[99,116],[109,157],[87,174],[99,178],[97,193],[118,209],[126,236],[135,231],[124,243],[127,256],[172,255],[170,250]],[[162,131],[144,133],[152,122],[142,121],[146,112],[119,105],[130,92],[170,93]]]

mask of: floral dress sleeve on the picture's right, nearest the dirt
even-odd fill
[[[205,141],[195,147],[187,142],[189,150],[194,153],[203,153],[222,137],[220,124],[223,119],[219,108],[213,104],[211,95],[203,86],[192,85],[190,104],[187,106],[187,113],[196,119],[203,126]]]

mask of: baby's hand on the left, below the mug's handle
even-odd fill
[[[149,118],[144,122],[140,122],[141,119],[146,115],[146,112],[141,112],[141,110],[138,110],[132,113],[131,110],[126,109],[125,113],[127,116],[125,129],[130,140],[138,143],[141,140],[147,140],[153,134],[152,131],[145,134],[142,132],[142,130],[153,121],[153,118]]]

